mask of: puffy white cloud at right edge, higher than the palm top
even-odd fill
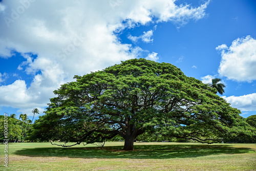
[[[234,40],[230,47],[223,44],[219,74],[237,81],[256,80],[256,39],[246,36]]]

